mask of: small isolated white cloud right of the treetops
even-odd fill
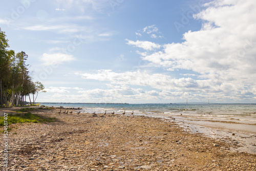
[[[58,65],[63,62],[68,62],[75,60],[73,55],[68,55],[64,53],[53,53],[47,54],[44,53],[41,57],[41,60],[44,61],[43,65],[50,66],[50,65]]]

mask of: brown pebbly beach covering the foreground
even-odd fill
[[[238,144],[172,120],[58,112],[32,112],[55,122],[10,125],[9,170],[256,170],[256,155],[230,151]]]

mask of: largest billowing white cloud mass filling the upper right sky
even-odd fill
[[[147,51],[142,59],[149,61],[150,66],[167,71],[194,72],[199,79],[180,78],[176,84],[171,84],[187,88],[187,91],[202,87],[204,82],[206,88],[203,90],[208,87],[210,92],[230,96],[255,94],[256,2],[223,0],[213,1],[206,7],[194,15],[203,20],[201,30],[184,33],[183,42],[163,45],[162,51]],[[143,30],[146,32],[147,29]],[[129,45],[142,47],[139,42],[132,41]]]

